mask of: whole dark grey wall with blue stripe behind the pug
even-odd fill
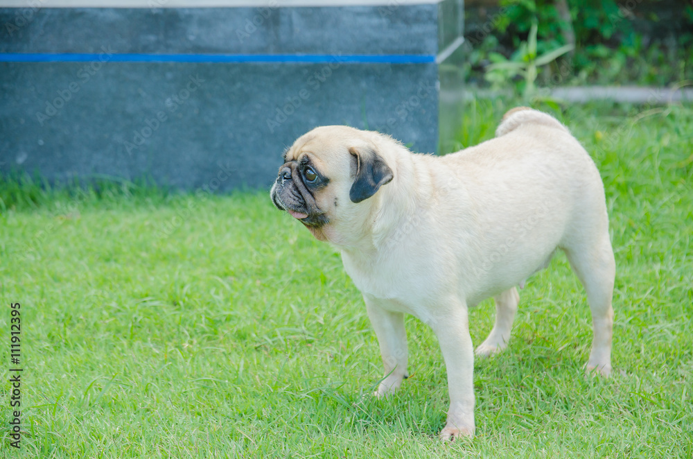
[[[0,8],[0,171],[267,187],[326,124],[435,152],[439,8]]]

